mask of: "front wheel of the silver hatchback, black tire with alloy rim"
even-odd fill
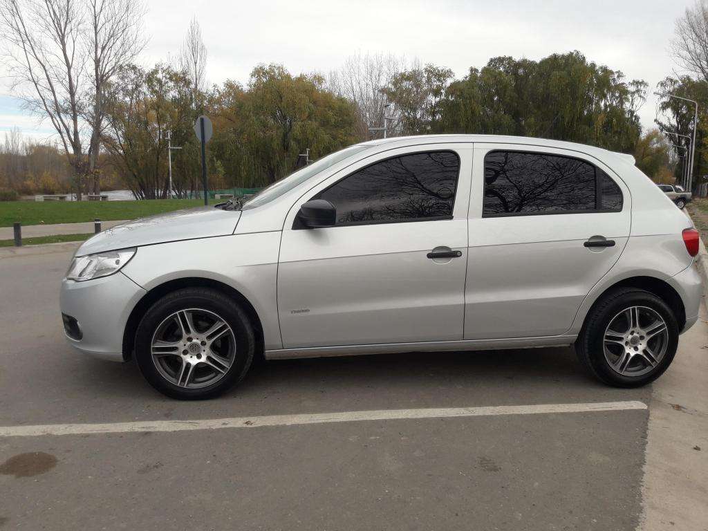
[[[210,399],[241,382],[256,342],[246,312],[222,292],[188,287],[165,295],[135,336],[140,372],[162,394]]]

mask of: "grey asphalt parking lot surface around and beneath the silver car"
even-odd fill
[[[135,364],[84,358],[65,345],[58,283],[71,253],[0,257],[0,426],[120,429],[0,435],[2,530],[681,529],[662,521],[662,507],[683,495],[681,488],[697,497],[695,517],[705,514],[705,483],[697,490],[692,474],[706,470],[706,411],[689,402],[706,391],[691,392],[686,380],[672,378],[680,367],[663,377],[675,389],[661,387],[661,379],[653,389],[626,390],[588,379],[569,349],[287,360],[256,367],[222,399],[173,401],[156,394]],[[690,334],[675,365],[687,349],[692,357],[705,352],[704,322]],[[685,399],[673,407],[672,396]],[[649,409],[621,406],[637,401]],[[445,415],[455,408],[582,409],[578,404],[597,402],[620,406]],[[655,404],[668,413],[652,421],[663,430],[652,442]],[[411,418],[430,408],[440,414]],[[418,413],[130,431],[145,421],[379,410]],[[667,451],[662,441],[677,422],[687,435],[668,445],[676,446],[673,469],[655,473],[653,463]],[[646,453],[648,437],[654,454]],[[666,486],[664,472],[685,479],[678,492],[657,488]],[[648,505],[652,521],[643,523]]]

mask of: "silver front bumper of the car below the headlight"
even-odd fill
[[[125,324],[145,293],[120,271],[85,282],[62,280],[59,301],[69,345],[96,358],[124,361]]]

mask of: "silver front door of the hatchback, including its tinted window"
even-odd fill
[[[393,149],[346,172],[303,195],[286,218],[283,348],[462,339],[472,144]],[[293,228],[312,199],[331,202],[336,223]],[[454,257],[431,254],[440,249]]]

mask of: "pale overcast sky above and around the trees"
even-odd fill
[[[644,79],[642,125],[656,116],[656,84],[679,72],[669,52],[675,19],[694,0],[241,1],[146,0],[144,66],[176,55],[196,16],[209,54],[210,84],[245,83],[259,63],[292,74],[341,67],[357,52],[390,53],[448,67],[460,78],[490,57],[541,59],[579,50],[588,60]],[[0,135],[52,137],[51,125],[23,112],[0,65]]]

